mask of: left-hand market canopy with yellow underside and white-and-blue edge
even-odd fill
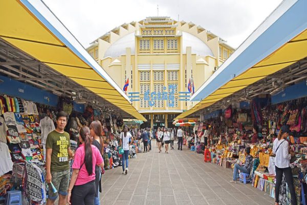
[[[8,43],[69,77],[123,112],[146,121],[113,79],[41,1],[2,1],[0,19],[0,37]]]

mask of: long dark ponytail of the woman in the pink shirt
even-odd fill
[[[82,127],[79,131],[79,134],[84,141],[84,165],[86,171],[89,175],[93,174],[93,152],[92,152],[92,145],[91,145],[91,137],[90,137],[90,128],[89,127]]]

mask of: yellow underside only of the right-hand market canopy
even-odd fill
[[[298,40],[300,39],[300,40]],[[178,115],[176,119],[187,117],[188,115],[204,109],[217,101],[232,95],[233,93],[246,88],[247,86],[259,81],[268,75],[282,70],[298,60],[307,56],[307,30],[284,44],[274,53],[261,60],[259,63],[233,78],[225,85],[218,88],[215,92],[204,98],[190,110]]]

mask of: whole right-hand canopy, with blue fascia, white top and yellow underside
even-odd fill
[[[204,109],[305,58],[306,7],[304,0],[282,2],[191,97],[190,100],[199,103],[176,119]]]

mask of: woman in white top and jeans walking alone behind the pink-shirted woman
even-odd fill
[[[125,125],[123,132],[120,133],[120,146],[124,150],[124,153],[122,154],[123,162],[123,173],[122,174],[128,174],[128,156],[129,156],[129,145],[133,142],[133,137],[128,132],[128,127]],[[126,169],[125,169],[125,162],[126,162]]]

